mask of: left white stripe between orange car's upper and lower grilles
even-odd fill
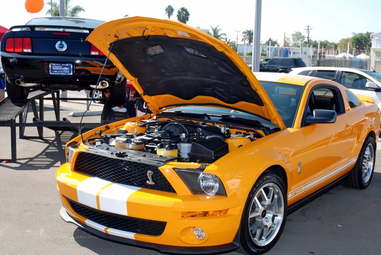
[[[97,177],[90,177],[81,181],[77,187],[78,202],[97,209],[97,194],[101,188],[110,183]]]

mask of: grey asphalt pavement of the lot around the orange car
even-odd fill
[[[61,118],[85,108],[83,104],[72,105],[61,103]],[[54,119],[54,112],[46,112],[45,119]],[[85,117],[84,121],[99,120]],[[36,136],[36,128],[26,128],[25,135]],[[64,145],[73,133],[45,128],[44,136],[43,140],[18,139],[18,163],[0,164],[0,254],[159,255],[100,239],[60,218],[55,171],[65,162]],[[0,141],[0,157],[10,157],[9,128],[0,127]],[[381,142],[378,147],[381,149]],[[267,254],[381,255],[380,157],[377,150],[369,188],[339,185],[288,216],[279,242]]]

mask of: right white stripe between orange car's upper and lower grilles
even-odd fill
[[[101,211],[127,215],[127,199],[139,187],[114,183],[104,188],[99,194],[99,205]]]

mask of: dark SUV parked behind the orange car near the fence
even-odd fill
[[[260,62],[260,72],[289,73],[292,68],[305,66],[300,58],[268,58]]]

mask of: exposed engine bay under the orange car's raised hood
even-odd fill
[[[89,150],[115,157],[194,163],[213,163],[264,136],[253,128],[176,119],[130,121],[115,134],[97,134],[87,139]]]

